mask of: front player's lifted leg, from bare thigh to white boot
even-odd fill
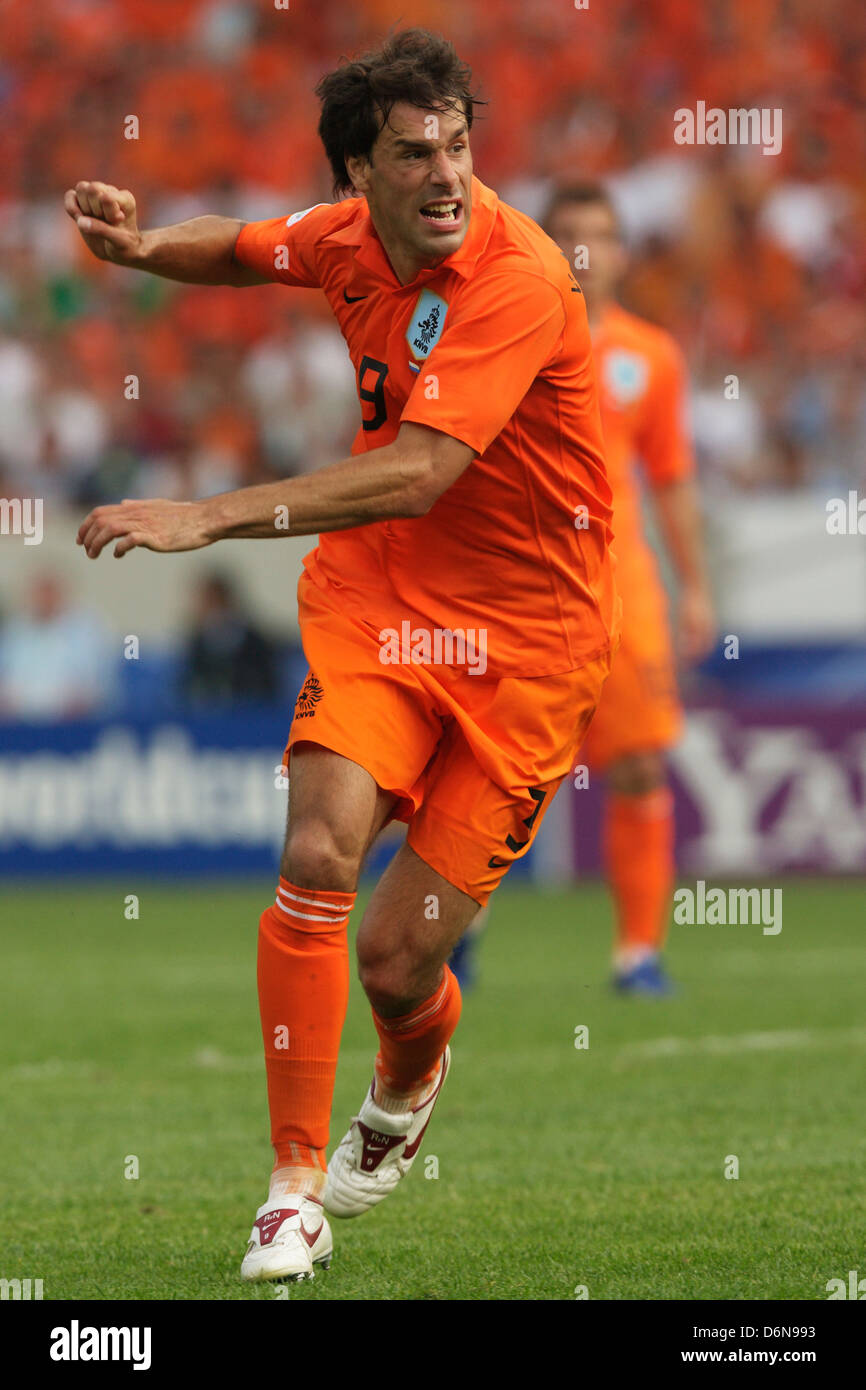
[[[460,987],[448,956],[478,903],[403,845],[373,894],[357,938],[361,984],[379,1034],[375,1074],[328,1165],[325,1207],[357,1216],[382,1201],[418,1152],[448,1074]]]

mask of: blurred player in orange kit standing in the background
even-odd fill
[[[601,183],[562,188],[544,220],[578,267],[595,353],[613,489],[623,638],[581,759],[605,774],[603,845],[616,903],[614,984],[664,994],[662,965],[674,877],[673,798],[664,753],[678,737],[674,642],[655,555],[644,535],[638,468],[649,484],[678,581],[678,655],[698,660],[714,635],[683,356],[670,334],[614,299],[626,267],[619,221]]]

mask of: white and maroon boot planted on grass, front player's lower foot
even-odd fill
[[[242,1279],[313,1279],[314,1266],[327,1269],[334,1252],[331,1227],[314,1197],[291,1193],[278,1204],[265,1202],[240,1265]]]

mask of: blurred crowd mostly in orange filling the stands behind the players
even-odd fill
[[[128,186],[143,225],[328,200],[313,88],[396,19],[473,65],[475,168],[507,202],[610,179],[623,297],[687,352],[710,492],[866,482],[862,0],[6,0],[0,496],[192,498],[348,453],[321,296],[99,264],[63,193]],[[676,145],[698,101],[781,108],[781,153]]]

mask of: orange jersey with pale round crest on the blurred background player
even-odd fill
[[[685,368],[670,334],[619,304],[605,310],[592,343],[607,477],[613,489],[617,584],[628,595],[656,578],[644,537],[637,467],[651,485],[687,478],[694,460],[685,423]]]

